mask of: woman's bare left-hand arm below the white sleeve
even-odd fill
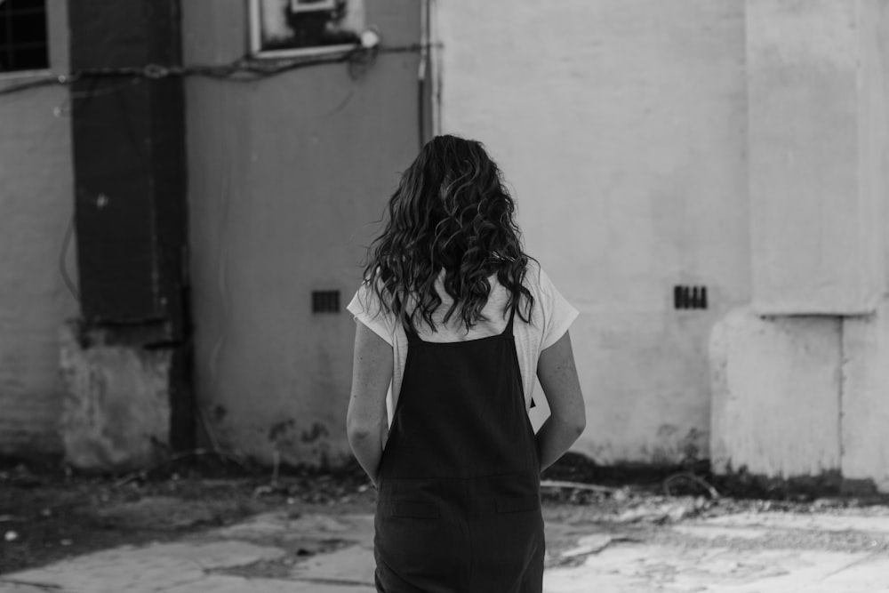
[[[352,396],[346,434],[352,453],[373,485],[377,484],[386,434],[386,392],[392,381],[392,347],[363,323],[356,322]]]

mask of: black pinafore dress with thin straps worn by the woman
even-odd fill
[[[407,330],[380,461],[376,586],[386,593],[540,592],[540,465],[513,338]]]

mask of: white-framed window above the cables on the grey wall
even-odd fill
[[[251,0],[251,50],[259,57],[347,50],[363,29],[364,0]]]

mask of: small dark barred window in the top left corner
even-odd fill
[[[0,73],[49,65],[46,0],[0,0]]]

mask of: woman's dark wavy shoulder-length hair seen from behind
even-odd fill
[[[432,315],[442,304],[436,279],[444,268],[453,299],[444,322],[459,315],[469,332],[485,318],[488,277],[496,273],[509,291],[504,313],[515,303],[530,323],[534,299],[523,280],[533,258],[523,251],[515,212],[501,170],[480,142],[436,136],[402,174],[386,226],[368,249],[364,280],[404,327],[416,331],[425,321],[435,332]]]

